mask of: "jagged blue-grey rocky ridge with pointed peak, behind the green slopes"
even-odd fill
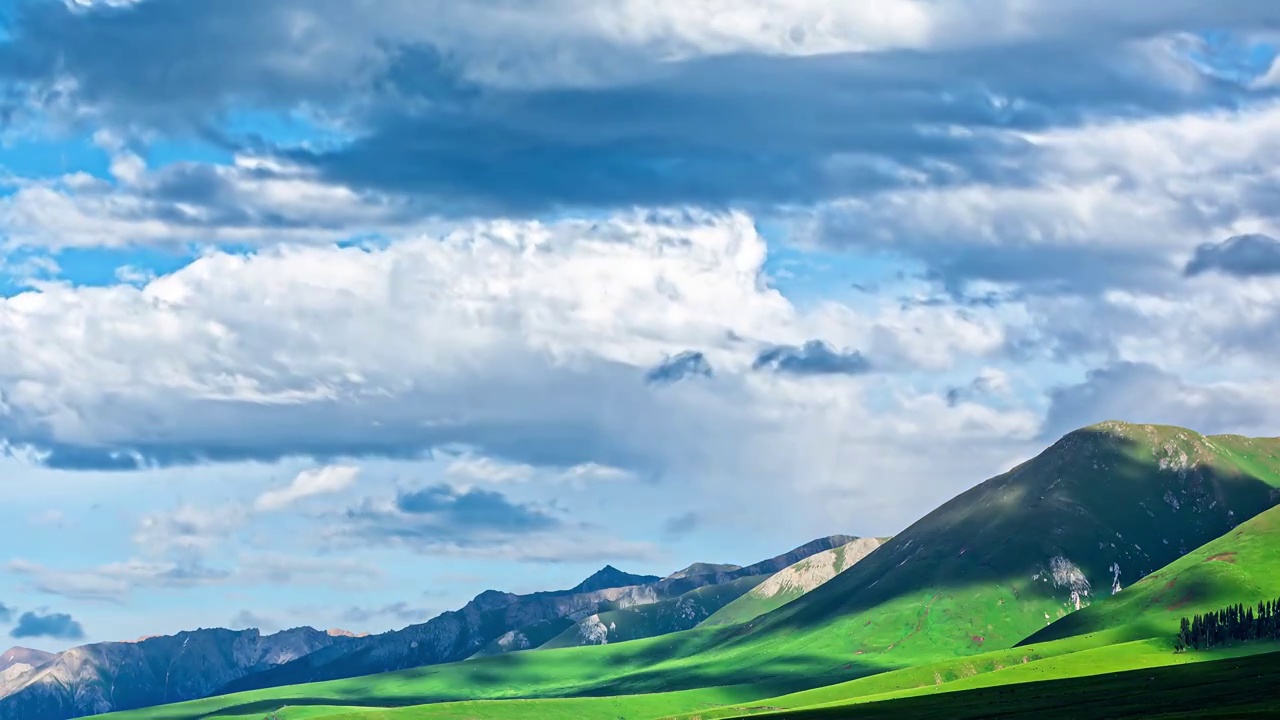
[[[355,678],[389,670],[453,662],[467,657],[484,657],[511,651],[536,648],[568,632],[576,623],[600,612],[626,610],[678,598],[708,585],[721,585],[753,575],[769,575],[792,562],[844,544],[847,536],[832,536],[805,543],[791,552],[771,557],[748,568],[727,569],[705,565],[710,571],[694,575],[653,578],[631,575],[612,566],[595,573],[568,591],[512,594],[486,591],[461,610],[444,612],[426,623],[410,625],[380,635],[371,635],[343,647],[301,657],[256,675],[236,679],[220,692],[242,692],[259,688]],[[713,570],[714,569],[714,570]],[[643,584],[600,587],[613,582],[645,580]],[[709,614],[709,612],[708,612]],[[700,620],[705,618],[701,615]],[[696,624],[696,623],[694,623]],[[671,623],[637,623],[635,634],[675,626]],[[686,629],[692,625],[684,625]],[[641,628],[649,628],[643,630]]]

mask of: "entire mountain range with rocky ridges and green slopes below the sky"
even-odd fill
[[[748,568],[654,578],[609,566],[568,591],[488,591],[421,625],[228,666],[179,684],[216,697],[120,719],[424,702],[445,705],[413,717],[710,719],[1196,662],[1221,653],[1175,657],[1180,612],[1280,592],[1277,502],[1277,438],[1102,423],[892,538],[823,538]],[[86,665],[61,696],[29,693],[65,655],[24,673],[0,719],[105,707],[111,696],[86,688],[109,664]],[[422,665],[434,667],[413,670]]]

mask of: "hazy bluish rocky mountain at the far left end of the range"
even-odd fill
[[[273,635],[201,629],[87,644],[0,684],[0,720],[63,720],[205,697],[236,678],[343,642],[352,641],[294,628]]]

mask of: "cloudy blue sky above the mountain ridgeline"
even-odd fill
[[[1096,421],[1276,436],[1277,42],[0,0],[0,633],[381,632],[892,534]]]

